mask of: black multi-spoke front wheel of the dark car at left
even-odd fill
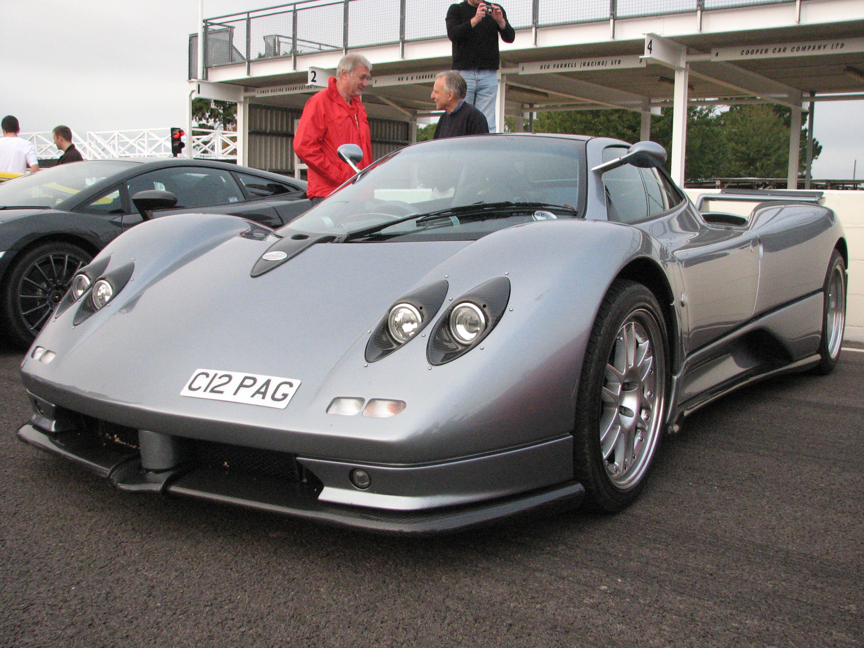
[[[0,289],[0,323],[15,346],[33,342],[73,276],[92,256],[78,245],[53,241],[16,258]]]

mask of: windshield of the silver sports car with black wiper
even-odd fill
[[[584,191],[583,149],[578,140],[530,136],[454,137],[406,147],[286,227],[340,240],[441,240],[480,238],[532,219],[574,218]],[[361,238],[351,236],[357,232]]]

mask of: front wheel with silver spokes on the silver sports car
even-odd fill
[[[668,337],[657,298],[616,280],[594,321],[576,394],[574,472],[594,511],[617,512],[645,487],[669,389]]]

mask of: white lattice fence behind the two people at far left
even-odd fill
[[[21,137],[32,142],[40,160],[60,157],[50,132],[22,133]],[[211,160],[237,160],[237,133],[232,130],[196,128],[183,137],[186,149],[184,157]],[[108,160],[118,157],[170,157],[171,129],[151,128],[137,130],[88,130],[86,137],[72,133],[72,142],[85,160]],[[191,150],[190,150],[191,149]]]

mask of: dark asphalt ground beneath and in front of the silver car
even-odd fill
[[[864,645],[864,353],[667,437],[641,499],[370,536],[114,491],[15,438],[0,351],[0,645]]]

